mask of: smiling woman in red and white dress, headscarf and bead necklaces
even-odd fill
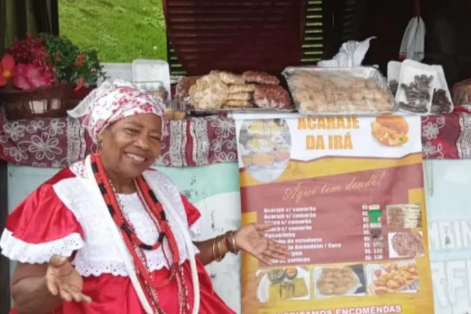
[[[2,254],[19,264],[19,314],[233,313],[204,265],[239,249],[270,264],[285,247],[270,225],[192,243],[200,214],[161,172],[164,104],[126,82],[105,82],[74,111],[97,152],[58,172],[12,214]],[[224,208],[221,208],[224,210]]]

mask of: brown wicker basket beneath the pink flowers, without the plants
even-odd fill
[[[0,102],[8,120],[65,117],[78,101],[74,84],[69,83],[24,91],[0,89]]]

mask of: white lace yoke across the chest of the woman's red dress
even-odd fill
[[[85,163],[78,162],[70,169],[74,172],[77,177],[73,179],[65,179],[54,185],[54,190],[58,197],[63,203],[69,208],[74,215],[77,217],[78,222],[83,227],[85,233],[85,247],[80,249],[72,264],[77,269],[80,275],[87,276],[100,276],[103,273],[111,274],[112,276],[129,276],[129,269],[127,269],[124,262],[124,257],[121,256],[116,243],[109,238],[109,234],[106,229],[102,228],[100,222],[100,216],[96,214],[96,211],[87,210],[88,208],[96,208],[100,203],[89,197],[89,190],[85,188],[87,182],[83,181],[84,177],[87,176],[85,171]],[[168,194],[168,198],[173,201],[171,210],[176,210],[182,220],[186,221],[187,216],[184,206],[181,201],[180,194],[176,189],[175,185],[171,182],[168,177],[161,174],[160,172],[152,172],[154,180],[160,183],[164,191]],[[153,243],[157,239],[157,230],[152,221],[149,221],[149,216],[145,213],[142,203],[140,202],[137,194],[119,194],[119,197],[124,205],[124,213],[128,215],[131,223],[137,230],[138,236],[144,243]],[[195,221],[190,227],[188,227],[192,240],[198,240],[201,236],[201,217]],[[169,217],[169,223],[171,227],[175,227],[175,221]],[[177,229],[177,228],[175,228]],[[180,250],[180,264],[186,262],[189,259],[186,249],[184,249],[184,240],[181,234],[175,234],[177,243],[179,244]],[[104,254],[104,252],[106,254]],[[194,247],[194,253],[198,254],[197,247]],[[127,252],[131,259],[131,255]],[[168,264],[164,257],[162,248],[154,251],[145,251],[149,271],[158,271],[160,269],[168,269]],[[167,252],[168,254],[168,252]],[[133,269],[135,271],[135,269]]]

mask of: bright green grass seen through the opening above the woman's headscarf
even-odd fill
[[[59,0],[61,35],[94,47],[100,60],[166,60],[162,0]]]

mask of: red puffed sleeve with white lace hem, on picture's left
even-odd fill
[[[52,184],[32,192],[8,216],[1,254],[23,263],[49,262],[54,254],[72,256],[84,246],[83,229],[57,197]]]

